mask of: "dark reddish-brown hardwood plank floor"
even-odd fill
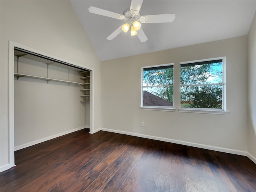
[[[1,192],[256,192],[248,157],[87,129],[15,152]]]

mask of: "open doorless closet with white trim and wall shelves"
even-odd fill
[[[93,70],[17,45],[10,42],[11,166],[16,150],[84,128],[93,132]]]

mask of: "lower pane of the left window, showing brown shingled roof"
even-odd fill
[[[143,106],[173,106],[173,86],[144,87]]]

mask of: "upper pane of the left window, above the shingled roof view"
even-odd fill
[[[170,66],[169,66],[170,67]],[[147,68],[143,71],[143,86],[159,86],[173,84],[173,66],[172,68],[153,69]]]

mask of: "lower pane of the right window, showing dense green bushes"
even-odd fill
[[[181,108],[222,108],[222,85],[181,86]]]

